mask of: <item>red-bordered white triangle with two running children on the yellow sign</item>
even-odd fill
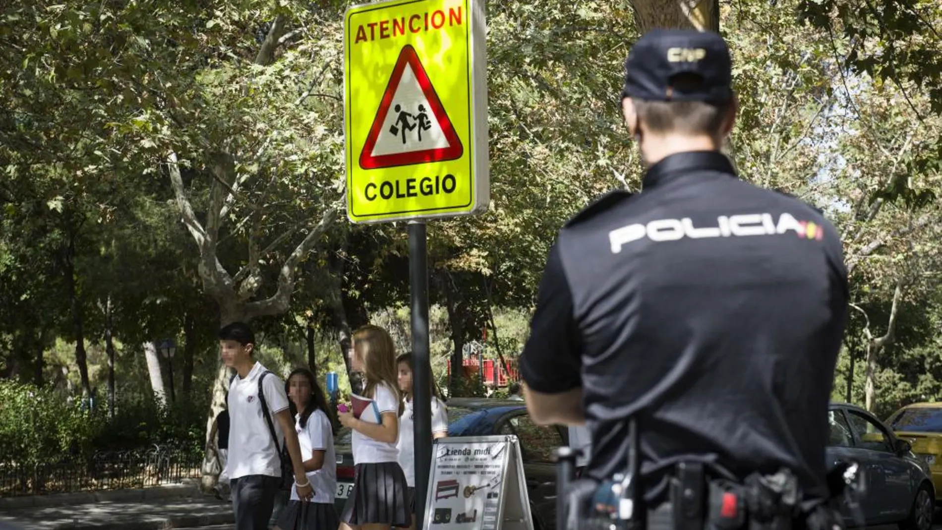
[[[393,168],[461,158],[464,153],[445,107],[411,44],[399,52],[369,129],[360,167]]]

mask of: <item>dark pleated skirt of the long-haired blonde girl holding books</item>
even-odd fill
[[[409,487],[398,462],[354,466],[353,490],[340,520],[351,526],[389,524],[408,528],[412,524]]]

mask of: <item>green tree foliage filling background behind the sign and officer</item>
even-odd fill
[[[0,40],[16,51],[0,56],[0,377],[57,389],[44,388],[34,410],[28,391],[5,387],[16,405],[0,410],[0,429],[21,433],[15,447],[0,440],[10,451],[35,458],[30,447],[54,455],[202,440],[202,392],[186,406],[154,404],[140,344],[179,339],[188,322],[192,386],[211,386],[220,312],[271,296],[312,219],[342,197],[346,4],[41,0],[0,10]],[[732,141],[740,173],[825,208],[855,266],[852,399],[863,399],[865,335],[887,329],[900,280],[896,342],[876,361],[878,410],[939,397],[942,121],[932,114],[942,104],[942,4],[722,6],[741,101]],[[276,20],[283,31],[272,36],[283,40],[263,50]],[[481,216],[429,223],[440,386],[456,342],[479,340],[485,327],[515,357],[560,226],[609,189],[639,188],[642,164],[618,109],[636,37],[624,2],[488,6],[493,201]],[[169,183],[171,152],[180,190]],[[193,212],[188,227],[182,204]],[[375,321],[398,350],[410,347],[403,228],[340,221],[302,252],[287,312],[257,320],[269,368],[306,363],[315,326],[318,379],[334,370],[349,392],[336,339],[344,312],[349,325]],[[211,243],[194,245],[201,238]],[[113,420],[60,394],[88,383],[104,395],[106,332],[118,347]],[[88,381],[78,377],[80,334]],[[842,395],[848,353],[841,362]],[[175,360],[178,389],[181,368]],[[455,393],[482,392],[475,377],[462,385]],[[27,412],[48,428],[27,426]]]

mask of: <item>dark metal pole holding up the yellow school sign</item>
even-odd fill
[[[415,530],[425,525],[431,466],[431,364],[429,360],[429,252],[425,221],[409,222],[409,283],[413,345]]]

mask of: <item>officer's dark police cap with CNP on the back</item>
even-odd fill
[[[674,82],[683,74],[683,83]],[[732,59],[712,31],[656,29],[635,42],[625,60],[622,97],[650,101],[719,102],[733,96]]]

